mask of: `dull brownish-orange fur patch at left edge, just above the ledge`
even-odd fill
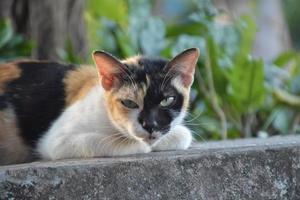
[[[26,161],[29,148],[19,135],[12,109],[0,111],[0,165]]]

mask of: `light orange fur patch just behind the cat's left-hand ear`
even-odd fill
[[[95,67],[82,66],[70,71],[64,79],[66,106],[84,98],[90,89],[99,84],[98,72]]]

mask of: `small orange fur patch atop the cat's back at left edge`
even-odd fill
[[[0,94],[4,93],[6,84],[14,79],[19,78],[21,73],[22,70],[15,64],[0,64]]]

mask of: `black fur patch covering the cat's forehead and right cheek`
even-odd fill
[[[129,73],[136,83],[146,83],[146,76],[149,76],[150,79],[150,85],[144,97],[144,108],[138,119],[141,124],[144,122],[150,124],[150,128],[146,127],[148,132],[168,132],[171,122],[180,114],[183,106],[183,95],[170,85],[172,74],[166,76],[167,71],[164,71],[167,62],[163,59],[142,57],[138,60],[139,66],[127,65]],[[129,78],[125,77],[125,81],[127,84],[131,84]],[[169,96],[175,97],[175,102],[169,107],[161,107],[160,102]],[[153,121],[158,123],[157,126],[151,127]]]

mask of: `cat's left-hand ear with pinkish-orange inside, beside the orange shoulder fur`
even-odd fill
[[[102,87],[110,90],[120,84],[125,66],[114,56],[104,51],[94,51],[93,59],[98,70]]]

